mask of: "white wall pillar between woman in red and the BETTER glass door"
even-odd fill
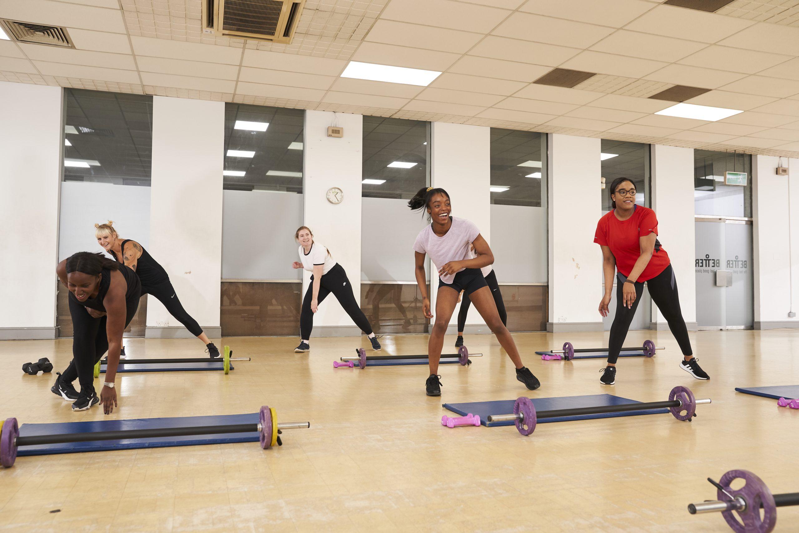
[[[695,329],[694,149],[652,145],[652,191],[652,209],[658,215],[658,241],[674,268],[682,317],[689,329]],[[654,304],[652,321],[658,328],[666,327],[666,320]]]

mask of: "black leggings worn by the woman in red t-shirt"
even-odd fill
[[[635,284],[635,301],[633,302],[633,307],[626,308],[624,304],[622,304],[622,288],[627,278],[621,272],[618,272],[616,276],[616,316],[613,319],[613,325],[610,326],[610,341],[607,349],[608,363],[615,363],[618,360],[618,352],[622,350],[622,344],[624,344],[627,331],[630,329],[633,316],[635,316],[635,309],[638,308],[638,302],[641,301],[641,295],[644,292],[644,284],[642,282],[637,282]],[[677,292],[677,280],[674,279],[674,270],[672,270],[671,265],[667,266],[666,270],[660,272],[651,280],[646,280],[646,286],[649,288],[652,301],[658,306],[666,322],[669,323],[671,334],[677,339],[677,343],[682,350],[682,355],[692,355],[694,352],[691,350],[691,341],[688,338],[686,321],[682,319],[680,298]]]

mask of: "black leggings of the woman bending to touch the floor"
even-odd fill
[[[81,391],[90,391],[94,388],[94,365],[108,352],[108,332],[105,331],[108,316],[94,318],[74,298],[70,297],[69,300],[73,328],[72,360],[61,377],[67,383],[78,380]],[[129,297],[126,305],[125,328],[139,308],[139,296],[134,294]]]

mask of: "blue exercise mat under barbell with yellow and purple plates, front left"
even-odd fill
[[[55,435],[63,433],[113,432],[121,429],[192,428],[228,424],[258,424],[258,413],[247,415],[181,416],[177,418],[140,418],[135,420],[96,420],[93,422],[63,422],[61,424],[22,424],[19,436]],[[221,433],[153,439],[97,440],[94,442],[42,444],[21,446],[18,455],[51,455],[78,451],[133,450],[142,447],[197,446],[198,444],[229,444],[258,442],[258,432]]]

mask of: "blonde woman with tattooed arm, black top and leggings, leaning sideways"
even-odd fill
[[[113,221],[95,224],[94,237],[97,237],[97,243],[115,261],[124,263],[138,274],[141,280],[142,295],[155,296],[161,304],[164,304],[170,315],[174,316],[193,336],[205,344],[205,351],[209,356],[219,357],[219,349],[205,335],[200,324],[197,324],[197,320],[194,320],[183,308],[172,282],[169,281],[169,274],[147,253],[143,246],[136,241],[119,237],[117,230],[113,229]]]

